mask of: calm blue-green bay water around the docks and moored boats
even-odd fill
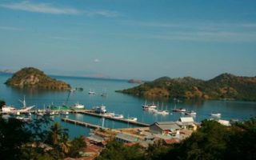
[[[40,90],[18,90],[6,86],[4,82],[10,78],[10,74],[0,74],[0,99],[6,101],[7,105],[14,105],[17,108],[21,106],[18,99],[22,99],[26,95],[27,105],[35,105],[37,108],[43,108],[51,103],[54,105],[62,105],[66,102],[68,97],[67,91],[40,91]],[[68,98],[68,105],[72,106],[76,102],[80,102],[90,109],[93,106],[106,106],[106,109],[115,114],[123,114],[126,118],[137,117],[138,122],[153,123],[158,121],[177,121],[178,118],[184,117],[181,113],[172,113],[170,115],[153,114],[142,110],[142,104],[147,101],[148,103],[154,102],[159,104],[159,109],[171,110],[174,108],[174,101],[172,99],[145,99],[138,98],[126,94],[114,92],[115,90],[127,89],[137,84],[128,83],[125,80],[113,79],[99,79],[99,78],[75,78],[75,77],[62,77],[51,76],[53,78],[62,80],[69,83],[73,88],[82,87],[83,91],[76,91],[70,94]],[[96,95],[89,95],[88,92],[92,90]],[[107,96],[102,97],[100,94],[106,92]],[[163,105],[162,105],[163,104]],[[220,112],[222,119],[230,120],[236,118],[245,120],[256,116],[256,102],[240,102],[240,101],[184,101],[179,102],[177,107],[186,108],[186,110],[194,110],[197,115],[194,120],[197,122],[205,118],[210,118],[211,112]],[[62,115],[55,115],[54,121],[61,122]],[[69,114],[68,118],[77,119],[83,122],[90,122],[93,124],[102,124],[101,118],[94,118],[82,114]],[[70,138],[77,137],[78,135],[88,135],[90,129],[61,122],[62,126],[70,130]],[[105,127],[110,128],[125,128],[134,127],[129,123],[114,122],[105,120]]]

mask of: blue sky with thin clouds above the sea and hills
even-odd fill
[[[0,1],[0,70],[154,80],[256,76],[255,0]]]

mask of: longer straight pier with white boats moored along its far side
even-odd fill
[[[113,118],[113,117],[108,117],[108,116],[104,116],[102,114],[95,114],[95,113],[90,113],[90,112],[86,112],[86,111],[76,111],[76,113],[78,114],[87,114],[90,116],[94,116],[94,117],[99,117],[99,118],[106,118],[106,119],[110,119],[113,121],[118,121],[118,122],[124,122],[124,123],[130,123],[136,126],[150,126],[149,124],[143,123],[143,122],[134,122],[134,121],[129,121],[127,119],[124,118]]]

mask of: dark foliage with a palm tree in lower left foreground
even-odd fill
[[[69,140],[66,129],[50,119],[38,118],[33,122],[21,122],[16,118],[0,116],[0,155],[7,159],[63,159],[78,158],[86,148],[82,137]]]

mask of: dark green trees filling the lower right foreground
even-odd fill
[[[111,142],[97,159],[256,159],[256,118],[226,127],[210,120],[181,143],[155,142],[148,149]]]

